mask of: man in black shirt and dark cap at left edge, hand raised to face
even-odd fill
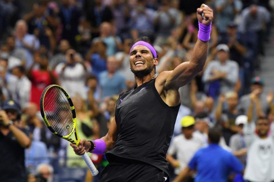
[[[2,103],[0,111],[0,180],[6,182],[25,181],[25,148],[30,146],[28,133],[20,125],[20,106],[13,100]],[[11,165],[12,164],[12,165]]]

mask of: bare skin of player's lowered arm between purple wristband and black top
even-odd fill
[[[111,121],[111,124],[106,136],[102,137],[102,140],[104,140],[106,143],[106,152],[108,150],[111,150],[114,147],[116,139],[117,139],[117,125],[114,117],[113,120]]]

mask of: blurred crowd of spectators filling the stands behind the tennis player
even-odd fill
[[[10,130],[20,141],[9,150],[20,148],[21,157],[7,154],[8,149],[0,151],[0,171],[4,172],[5,162],[11,158],[17,160],[18,169],[22,163],[26,166],[25,174],[20,175],[29,181],[50,181],[62,167],[85,168],[69,143],[52,135],[43,124],[43,90],[50,84],[67,90],[75,105],[80,138],[104,136],[118,95],[135,87],[129,65],[134,40],[147,36],[153,42],[159,55],[156,75],[173,70],[193,56],[198,34],[196,10],[202,3],[214,10],[209,52],[203,71],[180,88],[181,107],[167,153],[171,179],[207,145],[209,128],[219,126],[220,146],[248,169],[244,178],[273,181],[273,140],[267,146],[261,141],[261,153],[271,155],[266,160],[249,151],[257,150],[250,147],[255,139],[245,140],[251,134],[260,139],[265,133],[273,134],[273,93],[265,92],[264,80],[255,74],[270,41],[272,0],[39,0],[28,13],[23,13],[20,0],[0,0],[1,109],[31,140],[21,141],[22,133],[16,135],[13,127],[7,129],[1,122],[0,143],[5,146],[5,137],[12,139]],[[252,168],[251,157],[260,164],[260,160],[269,160],[262,164],[267,172]],[[107,165],[104,156],[93,154],[91,158],[100,170]],[[11,170],[12,175],[15,172]],[[258,180],[264,179],[260,175],[269,178]],[[243,181],[243,175],[230,175],[229,180]]]

